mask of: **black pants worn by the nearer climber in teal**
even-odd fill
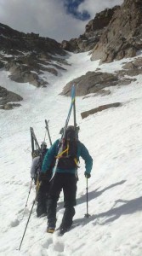
[[[72,218],[75,215],[74,206],[76,206],[77,177],[71,173],[56,172],[53,181],[50,184],[48,194],[48,226],[55,227],[56,207],[60,198],[60,191],[64,193],[65,212],[62,218],[61,228],[70,228]]]

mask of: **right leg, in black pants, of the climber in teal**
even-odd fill
[[[75,215],[74,206],[76,206],[77,194],[77,177],[67,173],[65,175],[65,183],[63,185],[65,212],[60,224],[60,230],[63,233],[71,228],[72,218]]]

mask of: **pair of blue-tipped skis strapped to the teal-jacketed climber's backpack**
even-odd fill
[[[62,151],[63,151],[63,148],[64,148],[64,142],[65,142],[65,132],[66,132],[66,129],[67,129],[67,126],[69,124],[69,120],[70,120],[70,117],[71,117],[71,111],[72,111],[72,108],[73,108],[73,117],[74,117],[74,127],[75,127],[75,131],[76,131],[76,137],[77,137],[77,124],[76,124],[76,87],[75,85],[73,84],[72,85],[72,88],[71,88],[71,106],[69,108],[69,112],[68,112],[68,115],[67,115],[67,118],[65,119],[65,127],[63,128],[64,131],[63,131],[63,134],[60,138],[60,148],[59,148],[59,151],[58,151],[58,154],[60,154]],[[57,166],[58,166],[58,163],[59,163],[59,158],[57,158],[56,162],[55,162],[55,166],[54,166],[54,170],[53,170],[53,175],[50,179],[50,181],[53,179],[55,173],[56,173],[56,170],[57,170]]]

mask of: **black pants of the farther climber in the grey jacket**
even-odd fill
[[[47,214],[49,182],[43,181],[37,194],[37,217]]]

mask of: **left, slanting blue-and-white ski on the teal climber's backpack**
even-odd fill
[[[71,106],[69,108],[69,112],[68,112],[68,115],[67,115],[67,118],[65,120],[65,127],[64,127],[64,131],[62,133],[62,136],[60,138],[60,147],[59,147],[59,151],[58,151],[58,154],[57,155],[60,155],[63,151],[63,148],[64,148],[64,142],[65,142],[65,131],[66,131],[66,128],[69,124],[69,120],[70,120],[70,117],[71,117],[71,110],[73,108],[73,105],[74,105],[74,102],[75,102],[75,96],[76,96],[76,88],[75,88],[75,85],[72,85],[72,88],[71,88]],[[57,170],[57,166],[58,166],[58,163],[59,163],[59,158],[56,159],[55,161],[55,166],[54,166],[54,170],[53,170],[53,175],[50,179],[50,181],[53,179],[54,175],[55,175],[55,172]]]

